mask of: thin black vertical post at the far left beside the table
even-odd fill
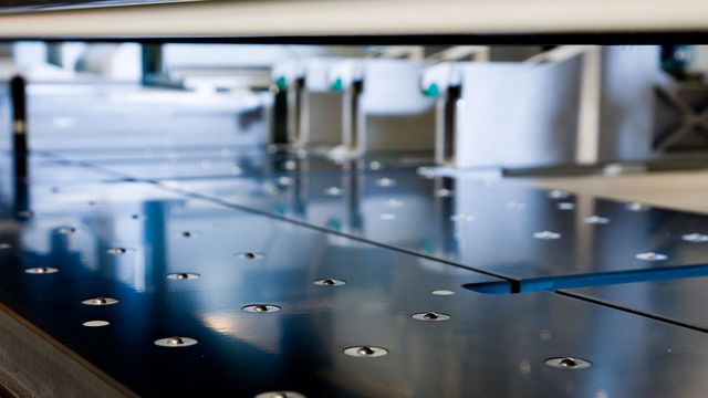
[[[14,213],[29,214],[27,82],[22,76],[10,80],[12,102],[12,155],[14,158]]]

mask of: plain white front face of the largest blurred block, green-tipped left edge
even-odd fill
[[[452,121],[438,106],[436,148],[452,129],[447,166],[532,167],[575,159],[581,56],[551,63],[441,63],[426,70],[423,87],[459,87]],[[447,115],[448,117],[450,114]]]

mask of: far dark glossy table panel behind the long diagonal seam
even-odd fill
[[[373,161],[372,169],[371,160],[335,165],[316,156],[261,151],[226,159],[214,153],[174,163],[88,164],[512,280],[708,264],[708,243],[683,239],[708,232],[706,216],[465,172],[430,177],[385,161]]]

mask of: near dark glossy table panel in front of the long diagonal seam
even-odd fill
[[[4,208],[0,237],[10,247],[0,254],[0,300],[139,395],[198,396],[205,386],[247,397],[708,390],[700,332],[553,293],[470,292],[460,284],[497,280],[152,184],[87,178],[95,170],[43,159],[33,165],[38,181],[75,178],[33,182],[31,217]],[[58,272],[25,272],[38,266]],[[200,277],[166,277],[173,273]],[[345,284],[313,284],[321,279]],[[456,294],[431,294],[439,290]],[[93,297],[118,303],[82,304]],[[242,310],[251,304],[280,311]],[[450,318],[412,317],[427,312]],[[110,325],[83,326],[87,321]],[[173,336],[198,343],[154,344]],[[387,355],[344,354],[362,345]],[[544,365],[558,356],[593,366]]]

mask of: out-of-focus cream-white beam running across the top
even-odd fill
[[[0,17],[0,38],[532,34],[708,30],[705,0],[247,0]]]

